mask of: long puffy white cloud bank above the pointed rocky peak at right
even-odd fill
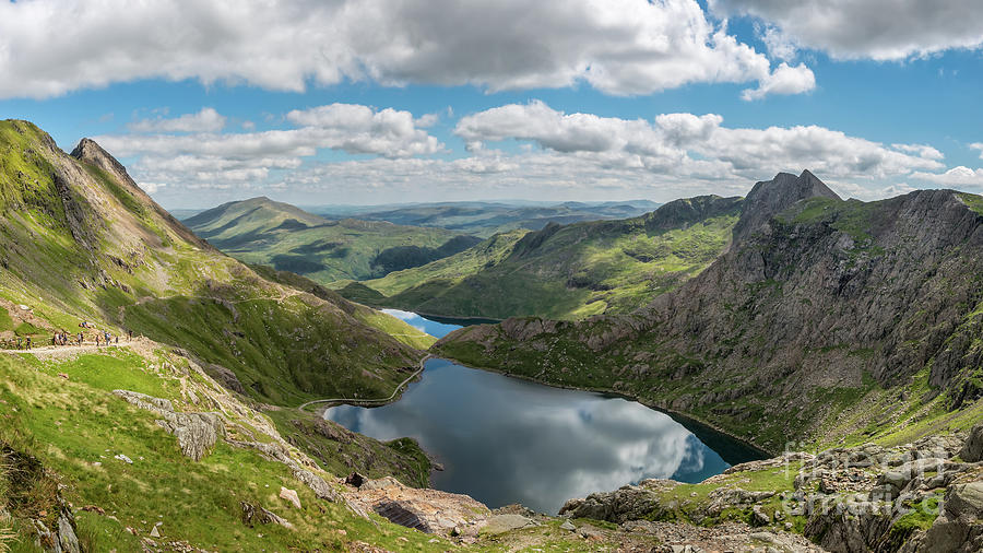
[[[722,122],[714,114],[664,114],[651,122],[565,114],[531,102],[463,117],[454,132],[473,145],[532,141],[602,166],[683,178],[755,178],[805,167],[827,178],[886,178],[944,167],[931,146],[885,145],[818,126],[746,129]]]

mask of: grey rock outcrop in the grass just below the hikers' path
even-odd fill
[[[181,452],[196,461],[208,455],[218,437],[225,433],[225,425],[218,413],[182,413],[175,411],[171,402],[166,399],[129,390],[114,390],[114,393],[141,409],[161,415],[163,419],[156,423],[174,434],[178,438]]]

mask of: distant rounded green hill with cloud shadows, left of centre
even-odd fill
[[[443,228],[355,219],[329,221],[268,198],[226,203],[185,223],[241,261],[304,274],[321,284],[381,276],[457,254],[478,242]]]

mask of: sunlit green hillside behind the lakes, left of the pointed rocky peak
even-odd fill
[[[716,259],[739,208],[739,199],[700,197],[635,219],[516,231],[341,293],[372,305],[457,317],[627,313]]]

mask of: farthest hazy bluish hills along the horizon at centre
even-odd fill
[[[624,202],[483,202],[459,201],[402,205],[309,208],[329,219],[356,217],[389,221],[398,225],[436,226],[489,238],[499,233],[538,231],[549,223],[629,219],[648,213],[659,204],[648,200]]]

